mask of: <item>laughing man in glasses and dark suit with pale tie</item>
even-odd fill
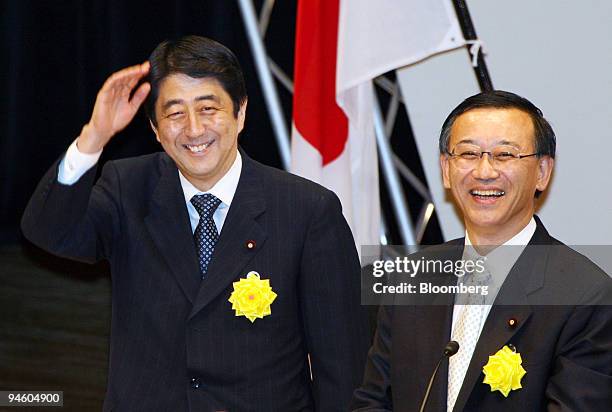
[[[440,164],[466,237],[415,260],[489,259],[482,273],[493,296],[398,295],[382,306],[352,410],[419,410],[450,340],[459,350],[441,364],[426,411],[610,409],[612,280],[534,216],[554,155],[552,128],[520,96],[481,93],[451,112]],[[473,272],[460,281],[441,272],[427,279],[447,288],[475,285]]]

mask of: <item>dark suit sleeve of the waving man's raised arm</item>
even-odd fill
[[[109,162],[77,182],[58,182],[57,161],[42,178],[21,220],[24,236],[55,255],[93,263],[112,254],[119,227],[119,179]]]

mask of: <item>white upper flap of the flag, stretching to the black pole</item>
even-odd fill
[[[450,0],[341,0],[337,92],[464,44]]]

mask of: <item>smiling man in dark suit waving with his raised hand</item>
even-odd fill
[[[164,152],[108,162],[94,182],[147,96]],[[32,242],[110,262],[104,410],[348,407],[368,345],[353,238],[332,192],[238,149],[246,106],[230,50],[164,42],[106,81],[28,205]]]

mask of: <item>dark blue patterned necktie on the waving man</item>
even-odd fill
[[[206,275],[208,264],[215,250],[215,244],[219,239],[219,233],[217,233],[213,214],[220,203],[221,200],[210,193],[195,195],[191,198],[191,204],[200,215],[200,221],[198,222],[195,232],[193,232],[193,238],[196,244],[202,278]]]

